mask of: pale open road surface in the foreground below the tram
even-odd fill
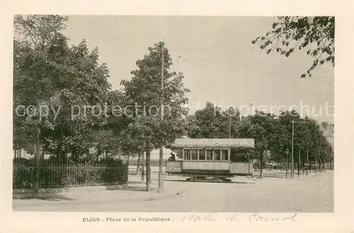
[[[156,178],[156,177],[155,177]],[[139,177],[132,177],[139,180]],[[187,182],[166,177],[170,194],[142,201],[107,201],[47,205],[13,204],[22,211],[114,211],[114,212],[333,212],[333,172],[304,179],[233,179],[231,183]],[[152,187],[157,186],[154,179]],[[132,195],[135,192],[132,191]],[[172,193],[172,194],[171,194]],[[178,194],[177,194],[178,193]]]

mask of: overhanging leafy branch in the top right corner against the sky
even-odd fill
[[[267,54],[275,51],[284,56],[290,56],[295,49],[306,49],[314,61],[301,77],[311,77],[312,70],[325,62],[331,62],[334,67],[334,25],[334,16],[279,16],[274,20],[273,30],[252,43],[266,49]]]

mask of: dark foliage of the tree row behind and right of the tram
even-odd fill
[[[207,102],[203,109],[187,117],[187,136],[190,138],[228,138],[229,115],[219,107]],[[253,158],[263,156],[265,150],[270,151],[270,159],[284,162],[292,148],[292,121],[295,121],[295,152],[309,150],[312,161],[333,161],[333,148],[326,141],[319,129],[319,123],[309,117],[301,118],[297,112],[280,112],[278,116],[256,111],[248,117],[232,120],[232,138],[254,138],[255,151],[234,151],[240,155]],[[236,156],[236,155],[235,155]],[[303,156],[303,155],[302,155]],[[302,160],[303,161],[303,160]]]

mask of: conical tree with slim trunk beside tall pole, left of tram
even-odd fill
[[[183,87],[183,73],[169,71],[173,64],[169,50],[164,42],[149,47],[149,53],[137,61],[137,69],[132,71],[132,79],[122,81],[127,104],[134,111],[127,131],[130,138],[142,143],[146,150],[147,191],[150,187],[150,151],[172,143],[183,135],[185,116],[188,114],[188,98]],[[161,61],[164,54],[164,90],[161,90]],[[161,120],[161,104],[164,106],[164,119]]]

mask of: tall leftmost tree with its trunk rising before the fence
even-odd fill
[[[52,94],[47,70],[42,64],[47,59],[47,51],[53,44],[61,44],[64,37],[59,30],[65,28],[67,18],[62,16],[15,16],[14,27],[22,40],[14,40],[13,49],[13,144],[22,143],[26,147],[35,144],[35,184],[34,196],[38,195],[40,170],[41,128],[50,127],[42,121],[39,107],[47,104]],[[55,41],[51,46],[48,45]],[[18,111],[23,105],[25,109]],[[22,137],[25,136],[25,138]],[[21,145],[20,145],[21,146]]]

